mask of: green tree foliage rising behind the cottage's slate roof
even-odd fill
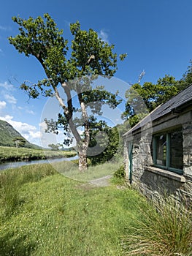
[[[137,124],[147,113],[169,100],[179,91],[177,81],[170,75],[159,78],[156,84],[145,82],[142,86],[135,83],[126,91],[126,110],[122,118]]]

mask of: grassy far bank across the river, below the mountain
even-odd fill
[[[24,161],[56,157],[74,157],[74,151],[51,151],[31,148],[0,146],[0,162]]]

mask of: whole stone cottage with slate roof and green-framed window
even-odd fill
[[[126,178],[147,197],[192,202],[192,85],[123,135]]]

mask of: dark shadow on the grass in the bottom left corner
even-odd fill
[[[0,236],[0,256],[28,256],[34,251],[36,243],[31,242],[26,244],[27,236],[14,238],[14,233],[7,233],[5,236]]]

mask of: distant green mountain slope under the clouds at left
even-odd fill
[[[0,146],[15,146],[14,139],[18,137],[23,138],[11,124],[7,123],[7,121],[0,120]],[[25,138],[23,140],[26,141],[24,144],[25,148],[40,148],[37,145],[29,143]]]

